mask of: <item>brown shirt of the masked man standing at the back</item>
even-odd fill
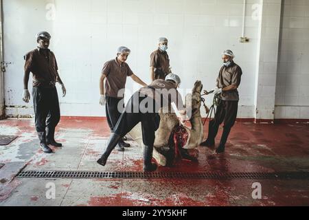
[[[157,70],[163,72],[163,74],[156,75],[155,79],[165,80],[165,76],[170,74],[170,58],[168,53],[160,49],[153,52],[150,55],[150,67],[155,67],[155,73]]]

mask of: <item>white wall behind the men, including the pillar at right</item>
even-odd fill
[[[103,63],[115,58],[119,45],[130,47],[128,64],[150,83],[150,53],[159,36],[166,36],[172,70],[183,78],[184,91],[198,79],[205,89],[212,89],[222,65],[220,54],[231,49],[244,72],[238,117],[274,118],[277,61],[269,63],[266,58],[278,48],[281,1],[247,0],[244,33],[250,43],[239,43],[243,0],[3,0],[3,8],[4,53],[12,62],[5,72],[9,115],[33,111],[31,104],[27,109],[21,100],[23,55],[36,47],[36,32],[47,30],[68,90],[67,97],[60,98],[62,115],[105,114],[98,104],[98,80]],[[273,79],[271,85],[268,76]],[[128,79],[127,88],[129,95],[139,86]],[[273,101],[265,106],[266,91]]]

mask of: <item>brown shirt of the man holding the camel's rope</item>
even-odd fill
[[[232,62],[228,67],[223,65],[217,78],[217,87],[225,88],[229,85],[237,85],[237,87],[239,87],[241,77],[242,69],[236,63]],[[238,90],[222,91],[220,98],[225,101],[238,101]]]

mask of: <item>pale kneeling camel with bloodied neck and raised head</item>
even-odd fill
[[[184,149],[188,151],[190,149],[194,149],[198,147],[201,142],[203,142],[203,123],[201,118],[201,91],[203,89],[203,85],[201,81],[196,81],[194,84],[194,88],[192,89],[192,94],[187,94],[185,97],[185,106],[186,109],[191,109],[192,115],[190,118],[190,123],[192,125],[191,128],[185,126],[189,137]],[[170,157],[168,154],[170,153],[169,140],[172,130],[175,126],[179,125],[179,119],[176,116],[176,113],[172,113],[168,111],[170,107],[166,109],[161,109],[159,115],[161,117],[159,129],[155,134],[155,144],[153,157],[156,159],[157,163],[160,166],[168,166],[171,164]],[[165,113],[168,112],[168,113]],[[138,124],[132,131],[130,131],[130,135],[133,139],[137,140],[139,144],[142,144],[141,141],[141,125]]]

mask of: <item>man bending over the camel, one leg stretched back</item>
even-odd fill
[[[155,80],[148,87],[141,88],[131,96],[126,109],[120,115],[120,118],[113,130],[106,150],[98,159],[98,164],[105,166],[108,156],[111,154],[119,140],[130,132],[139,122],[141,122],[141,131],[143,135],[144,148],[144,171],[155,171],[157,165],[151,162],[153,144],[155,142],[155,131],[159,129],[160,117],[159,109],[167,107],[167,102],[161,102],[161,97],[170,99],[175,103],[182,118],[185,118],[186,111],[183,107],[181,95],[176,91],[181,83],[179,76],[169,74],[164,80]],[[163,91],[164,90],[164,91]],[[168,92],[165,92],[167,90]],[[172,90],[172,91],[171,91]],[[174,94],[170,97],[168,94]],[[164,97],[165,96],[165,97]]]

